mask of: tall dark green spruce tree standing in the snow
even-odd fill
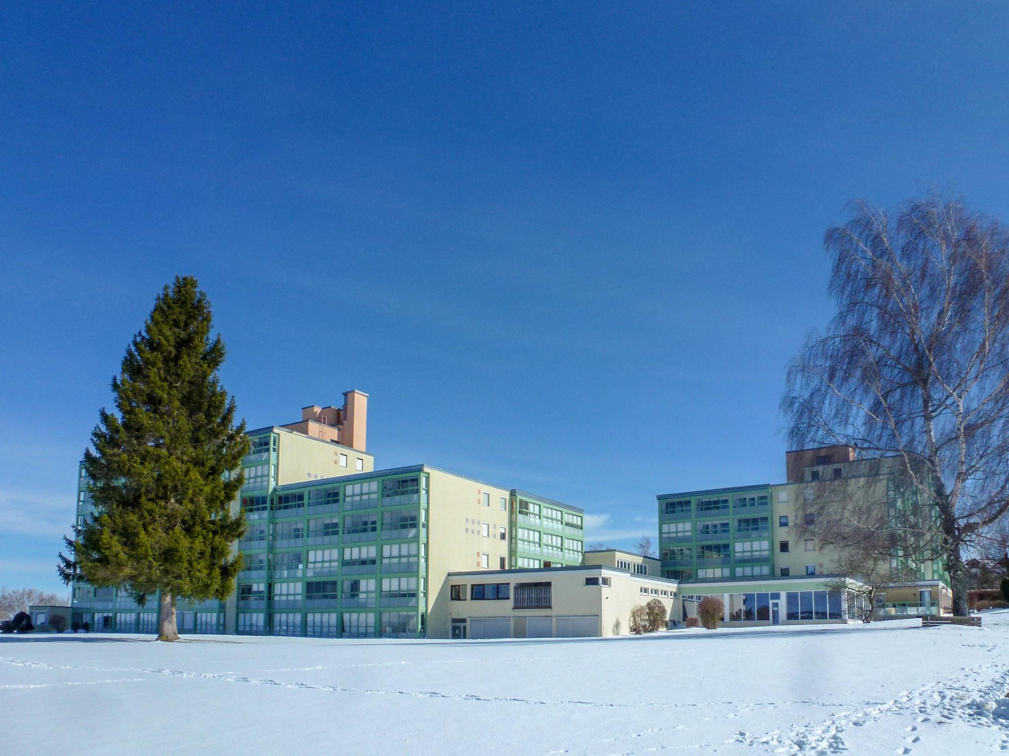
[[[112,379],[118,413],[100,411],[84,454],[95,517],[60,554],[68,585],[122,586],[141,605],[157,594],[158,640],[179,639],[178,599],[225,599],[241,569],[230,504],[248,439],[217,375],[224,355],[207,295],[177,276]]]

